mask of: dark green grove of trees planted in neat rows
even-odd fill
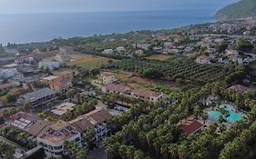
[[[144,70],[159,71],[169,80],[183,80],[191,84],[205,84],[223,79],[226,73],[222,65],[199,65],[183,56],[175,56],[167,61],[148,59],[127,59],[114,64],[117,69],[141,74]]]

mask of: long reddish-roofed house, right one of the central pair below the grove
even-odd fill
[[[139,88],[134,89],[130,94],[135,97],[141,98],[143,100],[148,100],[151,102],[159,102],[163,99],[163,94],[160,92],[153,92]]]

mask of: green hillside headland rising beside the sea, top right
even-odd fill
[[[256,17],[256,0],[241,0],[220,9],[215,18],[219,20]]]

